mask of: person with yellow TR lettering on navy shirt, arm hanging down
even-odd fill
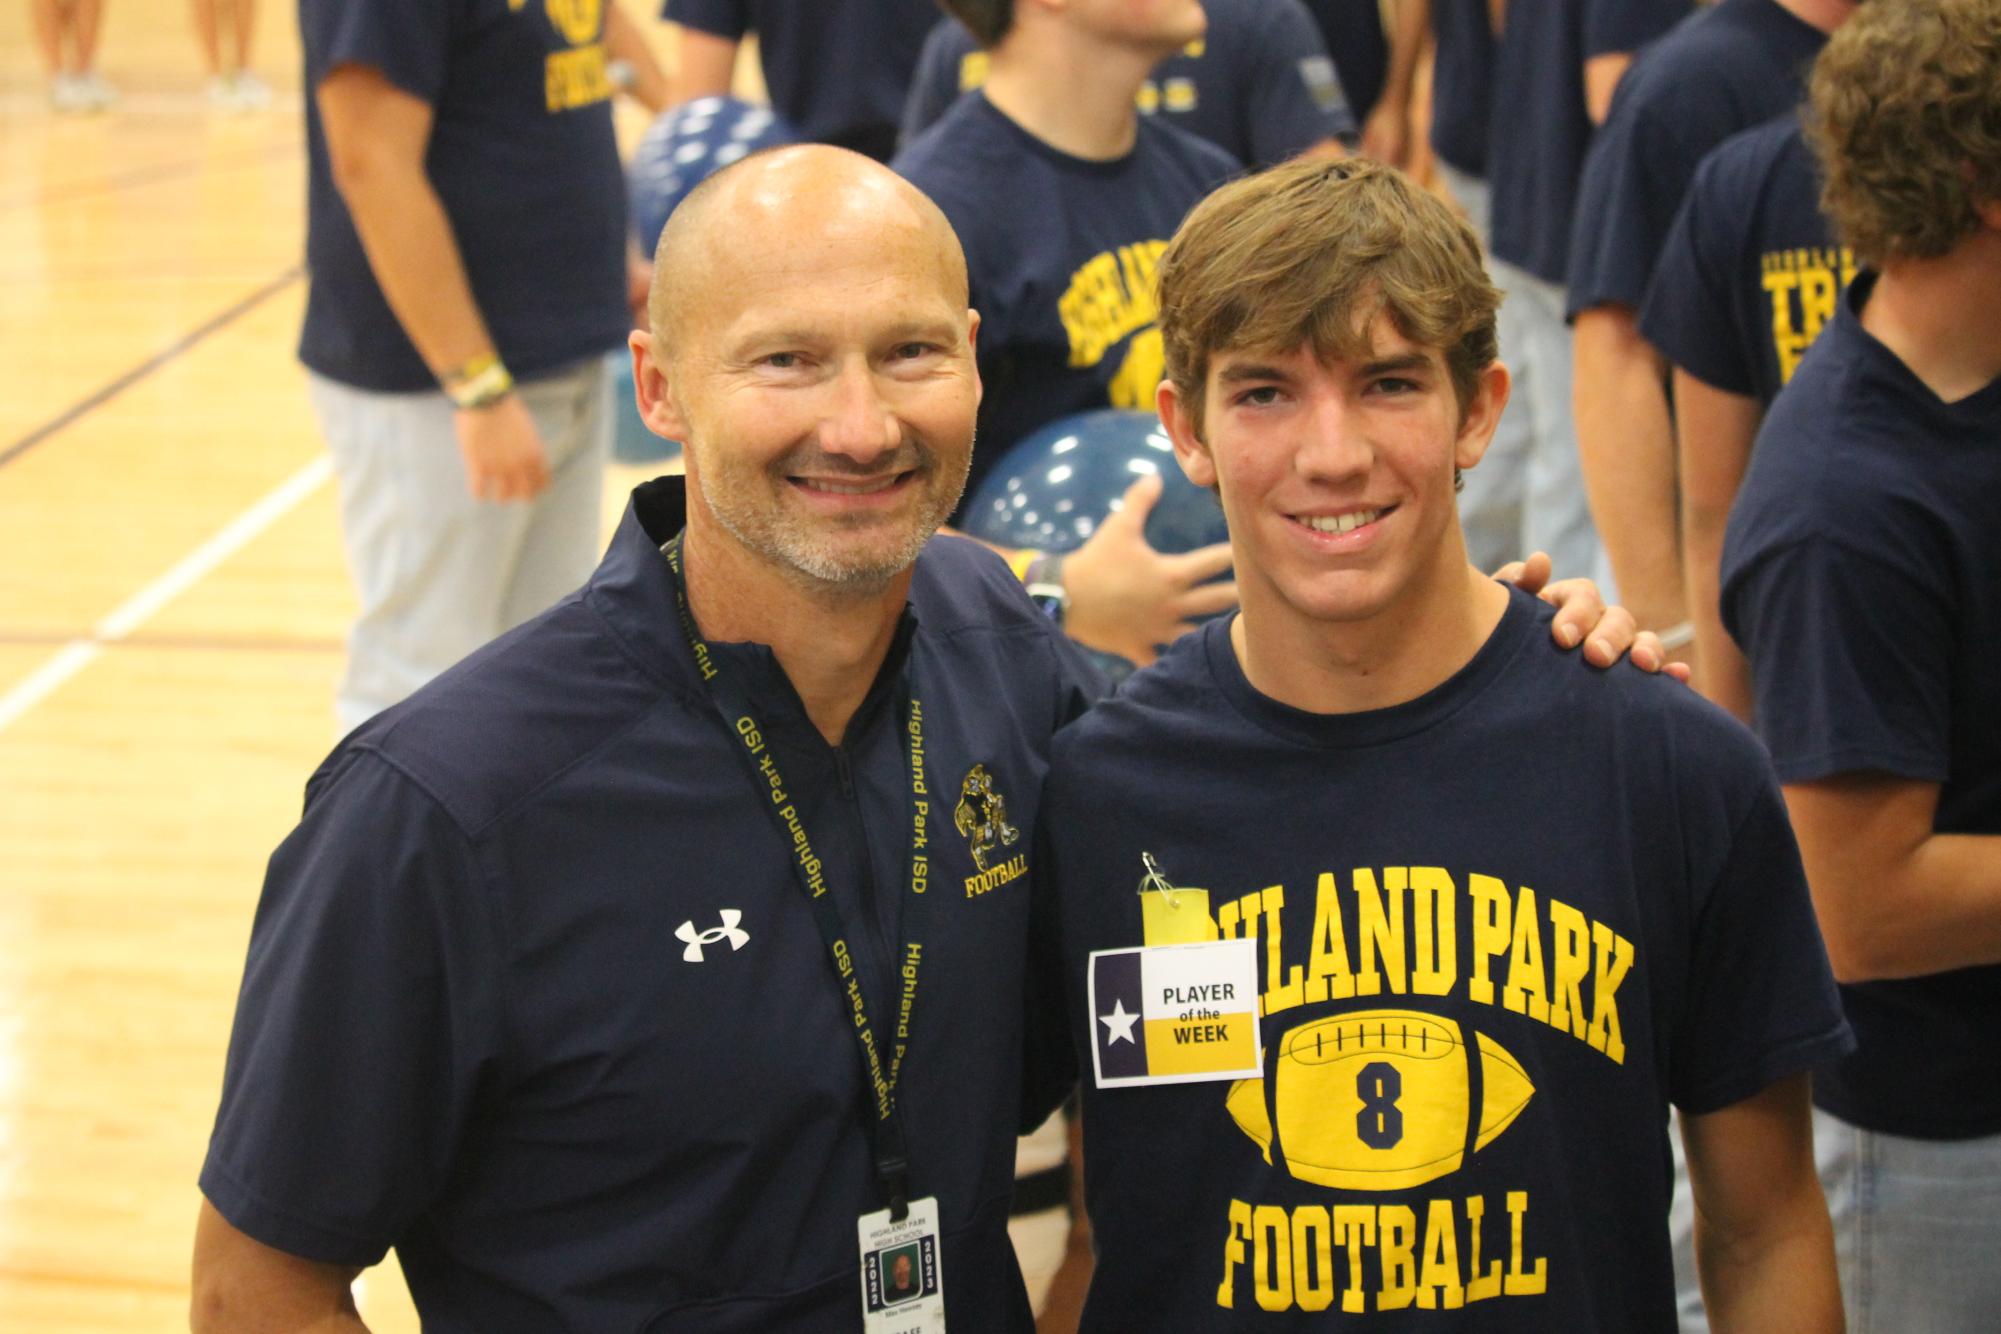
[[[1639,312],[1639,332],[1675,368],[1695,684],[1745,722],[1751,670],[1719,602],[1723,526],[1765,410],[1855,276],[1819,200],[1795,112],[1725,140],[1695,170]]]

